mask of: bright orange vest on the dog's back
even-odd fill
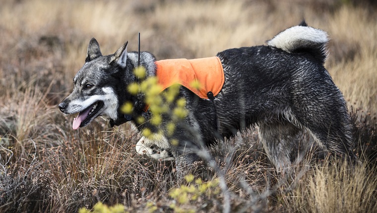
[[[224,85],[224,69],[220,58],[207,57],[197,59],[166,59],[156,61],[156,76],[162,91],[180,84],[202,99],[208,99],[207,93],[211,91],[216,96]],[[198,82],[199,87],[192,82]],[[148,110],[148,106],[144,111]]]

